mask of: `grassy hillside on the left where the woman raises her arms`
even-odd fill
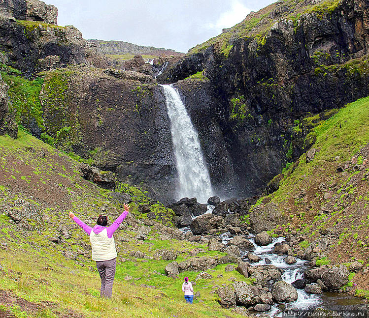
[[[225,272],[226,265],[208,270],[214,278],[197,281],[195,291],[201,296],[188,306],[181,284],[185,276],[194,280],[197,273],[168,278],[163,275],[164,268],[172,260],[152,258],[158,249],[177,251],[176,261],[190,258],[189,251],[194,248],[204,250],[198,256],[224,254],[209,252],[207,245],[161,237],[169,230],[155,220],[151,227],[144,226],[147,216],[139,212],[140,205],[150,200],[139,189],[124,184],[118,188],[131,195],[132,211],[115,233],[118,261],[113,299],[101,299],[88,236],[68,218],[68,211],[93,225],[101,210],[112,222],[121,213],[122,203],[108,190],[82,179],[79,162],[22,130],[17,140],[1,136],[0,151],[1,317],[195,318],[231,314],[215,301],[212,287],[229,283],[231,276],[242,280],[238,272]],[[165,208],[156,203],[151,210],[160,213]],[[24,212],[23,217],[14,222],[8,215],[14,217],[19,211]],[[170,210],[167,213],[170,215]],[[137,239],[139,233],[147,233],[147,237]],[[137,251],[145,257],[132,256]],[[219,274],[223,276],[217,278]]]

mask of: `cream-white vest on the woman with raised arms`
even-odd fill
[[[114,237],[112,236],[109,238],[106,229],[103,229],[99,234],[91,231],[90,242],[92,247],[92,260],[112,260],[117,257]]]

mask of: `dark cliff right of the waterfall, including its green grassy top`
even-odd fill
[[[196,84],[216,100],[201,121],[221,131],[223,158],[238,177],[235,195],[252,195],[308,148],[292,151],[303,117],[369,94],[368,49],[367,1],[279,1],[195,47],[159,81],[197,72],[209,79]],[[196,113],[196,101],[187,107]],[[214,135],[197,129],[206,149]]]

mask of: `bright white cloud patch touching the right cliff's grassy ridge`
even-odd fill
[[[223,12],[215,23],[207,24],[208,29],[231,28],[241,22],[251,12],[243,3],[233,0],[231,8]]]

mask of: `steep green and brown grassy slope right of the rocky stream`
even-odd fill
[[[320,250],[326,262],[355,260],[369,266],[369,97],[340,109],[316,126],[306,138],[314,136],[317,150],[311,162],[306,153],[283,170],[279,188],[261,198],[257,205],[274,202],[290,216],[283,225],[285,234],[292,231],[308,235],[309,242],[329,239]],[[316,116],[304,120],[314,123]],[[295,131],[301,131],[296,122]],[[313,124],[314,126],[314,124]],[[353,279],[357,293],[369,288],[368,273]]]

